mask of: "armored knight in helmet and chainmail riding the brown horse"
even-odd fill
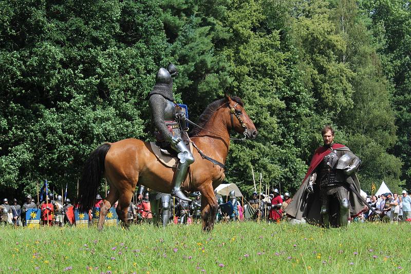
[[[184,132],[181,125],[185,125],[185,118],[182,109],[174,102],[172,89],[173,77],[176,75],[177,68],[171,63],[167,69],[160,68],[156,75],[156,84],[148,96],[157,141],[171,146],[178,153],[179,162],[174,175],[172,194],[180,200],[190,202],[191,200],[184,195],[180,186],[185,180],[188,167],[194,163],[194,157],[185,141],[181,139]]]

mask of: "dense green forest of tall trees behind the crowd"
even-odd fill
[[[225,93],[245,102],[259,135],[231,143],[226,177],[247,194],[252,166],[263,185],[294,192],[326,124],[362,159],[362,189],[411,188],[408,0],[1,0],[0,9],[2,197],[35,194],[45,179],[73,197],[99,144],[152,140],[147,94],[169,62],[193,121]]]

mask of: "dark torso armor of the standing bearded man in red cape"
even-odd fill
[[[338,162],[337,151],[332,150],[328,155],[324,156],[321,163],[320,174],[321,181],[320,187],[339,185],[344,182],[344,176],[340,170],[335,169]]]

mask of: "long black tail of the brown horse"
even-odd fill
[[[88,211],[94,206],[97,189],[104,173],[104,160],[110,147],[109,143],[104,143],[96,148],[90,153],[84,165],[79,182],[78,203],[80,210]]]

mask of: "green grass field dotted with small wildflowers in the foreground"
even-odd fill
[[[0,272],[408,273],[411,225],[133,225],[129,230],[0,227]]]

